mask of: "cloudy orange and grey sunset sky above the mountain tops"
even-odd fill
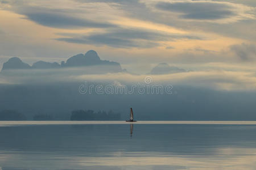
[[[0,23],[1,65],[13,56],[60,62],[93,49],[141,74],[167,62],[256,84],[255,0],[0,0]]]

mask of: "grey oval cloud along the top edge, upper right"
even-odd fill
[[[156,8],[170,12],[181,12],[185,19],[222,19],[236,15],[232,7],[224,3],[210,2],[158,2]]]

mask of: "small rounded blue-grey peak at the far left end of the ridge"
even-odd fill
[[[13,69],[31,69],[31,66],[24,63],[18,57],[10,58],[7,62],[3,63],[3,70],[13,70]]]

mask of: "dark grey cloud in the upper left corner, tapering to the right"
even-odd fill
[[[15,1],[16,2],[16,1]],[[84,8],[48,8],[41,6],[30,6],[25,4],[16,5],[11,3],[13,6],[11,10],[18,14],[25,15],[24,19],[31,20],[40,25],[53,28],[109,28],[116,27],[114,24],[89,19],[85,17],[88,11]]]

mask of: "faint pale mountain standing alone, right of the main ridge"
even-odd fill
[[[185,69],[180,69],[179,67],[169,66],[167,63],[159,63],[155,66],[150,74],[171,74],[171,73],[183,73],[187,72]]]

